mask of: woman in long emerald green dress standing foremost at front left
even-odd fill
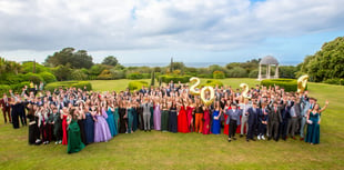
[[[68,118],[68,153],[79,152],[84,148],[84,144],[81,141],[77,112],[78,110],[71,109],[70,117]]]

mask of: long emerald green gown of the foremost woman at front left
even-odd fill
[[[68,127],[68,153],[79,152],[84,148],[84,143],[81,141],[80,127],[77,120],[71,120]]]

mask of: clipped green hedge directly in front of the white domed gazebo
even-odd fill
[[[296,79],[266,79],[261,81],[261,86],[264,87],[273,87],[274,84],[279,86],[280,88],[284,88],[284,91],[297,91]]]

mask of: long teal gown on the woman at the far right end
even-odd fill
[[[307,126],[307,134],[305,138],[305,141],[308,143],[320,143],[320,124],[317,123],[318,119],[318,113],[310,112],[310,120],[312,121],[312,124]]]

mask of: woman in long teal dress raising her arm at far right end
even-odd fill
[[[320,122],[321,122],[321,112],[323,112],[328,106],[328,101],[324,108],[320,109],[318,103],[316,103],[312,110],[308,111],[307,116],[307,134],[305,141],[311,144],[320,143]]]

